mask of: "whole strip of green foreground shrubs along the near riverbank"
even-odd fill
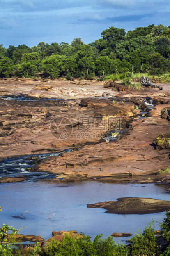
[[[0,209],[1,211],[1,209]],[[145,227],[144,231],[135,233],[128,240],[128,245],[116,244],[113,237],[102,239],[102,234],[97,235],[94,241],[90,236],[83,234],[82,238],[75,239],[66,235],[62,241],[52,239],[46,247],[39,248],[38,243],[27,250],[19,249],[14,245],[13,235],[17,230],[8,225],[3,225],[0,230],[0,256],[169,256],[170,255],[170,211],[165,211],[165,218],[159,223],[160,232],[167,243],[164,251],[159,251],[157,237],[154,230],[154,220]],[[11,230],[11,239],[7,242],[7,231]]]

